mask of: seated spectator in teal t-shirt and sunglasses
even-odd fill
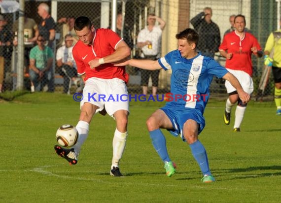
[[[48,73],[53,64],[53,51],[45,45],[45,38],[39,34],[36,40],[37,45],[30,51],[30,79],[31,92],[42,91],[48,83]]]

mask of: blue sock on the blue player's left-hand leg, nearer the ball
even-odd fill
[[[170,162],[171,159],[168,155],[167,146],[166,146],[166,139],[165,136],[162,134],[160,129],[149,131],[150,138],[152,140],[152,144],[154,149],[163,160],[163,162]]]

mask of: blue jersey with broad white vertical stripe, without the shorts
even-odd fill
[[[178,50],[169,52],[158,60],[165,70],[172,70],[171,93],[166,105],[195,108],[202,114],[210,97],[213,76],[223,77],[228,71],[214,59],[200,53],[192,59],[183,58]]]

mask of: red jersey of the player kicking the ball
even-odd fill
[[[125,67],[116,67],[106,63],[94,69],[90,68],[89,61],[112,54],[117,44],[122,40],[118,34],[109,29],[95,29],[94,32],[93,45],[86,45],[78,40],[72,49],[78,74],[86,73],[85,81],[91,77],[98,77],[103,79],[119,78],[127,83],[129,75],[126,73]]]

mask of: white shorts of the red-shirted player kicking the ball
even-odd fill
[[[80,102],[80,108],[85,102],[92,103],[99,108],[96,113],[105,110],[108,115],[113,117],[113,114],[118,110],[127,110],[129,112],[129,101],[120,100],[121,95],[127,95],[127,86],[125,82],[119,78],[102,79],[97,77],[89,78],[83,89],[83,99]]]

